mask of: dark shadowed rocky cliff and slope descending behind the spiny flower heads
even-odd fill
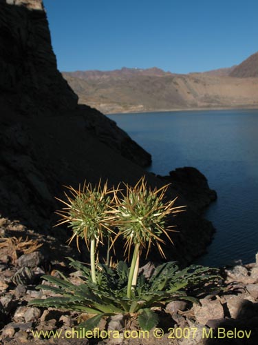
[[[110,185],[135,184],[142,175],[151,186],[164,184],[142,169],[150,155],[114,121],[78,106],[56,69],[40,0],[0,0],[0,48],[1,216],[58,237],[61,231],[52,229],[53,211],[60,207],[54,196],[62,195],[63,184],[77,187],[100,178]],[[177,195],[171,188],[169,197]],[[190,201],[177,202],[188,208],[176,217],[179,232],[167,253],[187,262],[204,251],[213,228]]]

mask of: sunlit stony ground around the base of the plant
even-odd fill
[[[204,296],[200,305],[182,301],[168,304],[165,311],[160,311],[158,327],[164,331],[163,336],[162,331],[154,333],[153,330],[144,339],[143,333],[136,336],[137,325],[131,322],[127,324],[127,330],[134,331],[131,339],[70,339],[63,335],[71,335],[69,332],[86,315],[36,308],[28,306],[28,302],[47,294],[45,290],[36,290],[45,273],[58,275],[60,270],[76,283],[78,277],[69,273],[62,255],[65,251],[67,256],[75,256],[76,250],[60,246],[54,237],[40,235],[19,221],[0,218],[0,231],[0,342],[3,345],[257,344],[258,255],[253,264],[221,269],[223,293]],[[36,339],[32,331],[61,333],[59,339],[57,335]],[[108,326],[103,321],[100,331],[125,334],[125,324],[118,315]]]

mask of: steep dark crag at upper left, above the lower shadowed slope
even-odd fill
[[[78,97],[56,68],[42,2],[8,3],[0,1],[1,108],[25,116],[74,109]]]

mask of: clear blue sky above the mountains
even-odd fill
[[[61,71],[230,67],[258,50],[258,0],[44,0]]]

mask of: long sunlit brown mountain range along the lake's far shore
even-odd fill
[[[252,63],[246,67],[248,70],[250,66],[250,76],[253,75],[254,60],[250,57]],[[237,78],[235,73],[244,64],[245,61],[239,66],[189,75],[153,67],[63,72],[63,77],[79,96],[80,103],[106,114],[258,107],[258,78],[248,79],[241,75]]]

